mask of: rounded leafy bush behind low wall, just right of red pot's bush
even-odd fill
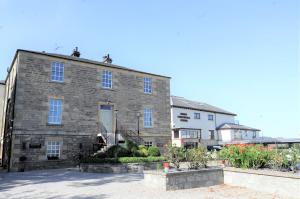
[[[188,149],[186,152],[186,160],[189,162],[189,169],[199,169],[207,167],[209,155],[204,147]]]

